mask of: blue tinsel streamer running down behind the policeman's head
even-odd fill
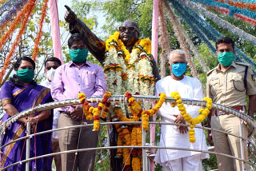
[[[197,13],[194,12],[194,10],[187,8],[186,6],[182,6],[182,4],[180,4],[179,2],[176,2],[176,1],[172,1],[172,3],[174,5],[174,7],[176,8],[176,10],[178,10],[179,13],[185,17],[185,21],[187,23],[190,21],[193,21],[194,25],[198,26],[199,30],[202,30],[202,32],[207,36],[207,38],[216,42],[218,40],[218,38],[222,37],[222,34],[220,34],[217,30],[215,30],[213,26],[210,26],[210,24],[208,22],[206,22],[205,20],[203,20]],[[190,24],[190,26],[191,26],[191,24]],[[193,26],[192,26],[192,28],[195,29]],[[196,31],[196,32],[198,33],[198,31]],[[205,38],[203,38],[203,39],[205,39]],[[211,49],[211,47],[210,47],[210,49]],[[237,52],[237,54],[234,57],[234,60],[236,62],[246,61],[254,69],[256,68],[256,64],[250,58],[248,58],[246,56],[246,54],[243,54],[242,51],[236,47],[234,47],[234,50],[236,50],[236,52]],[[240,59],[239,56],[242,57],[243,60]]]

